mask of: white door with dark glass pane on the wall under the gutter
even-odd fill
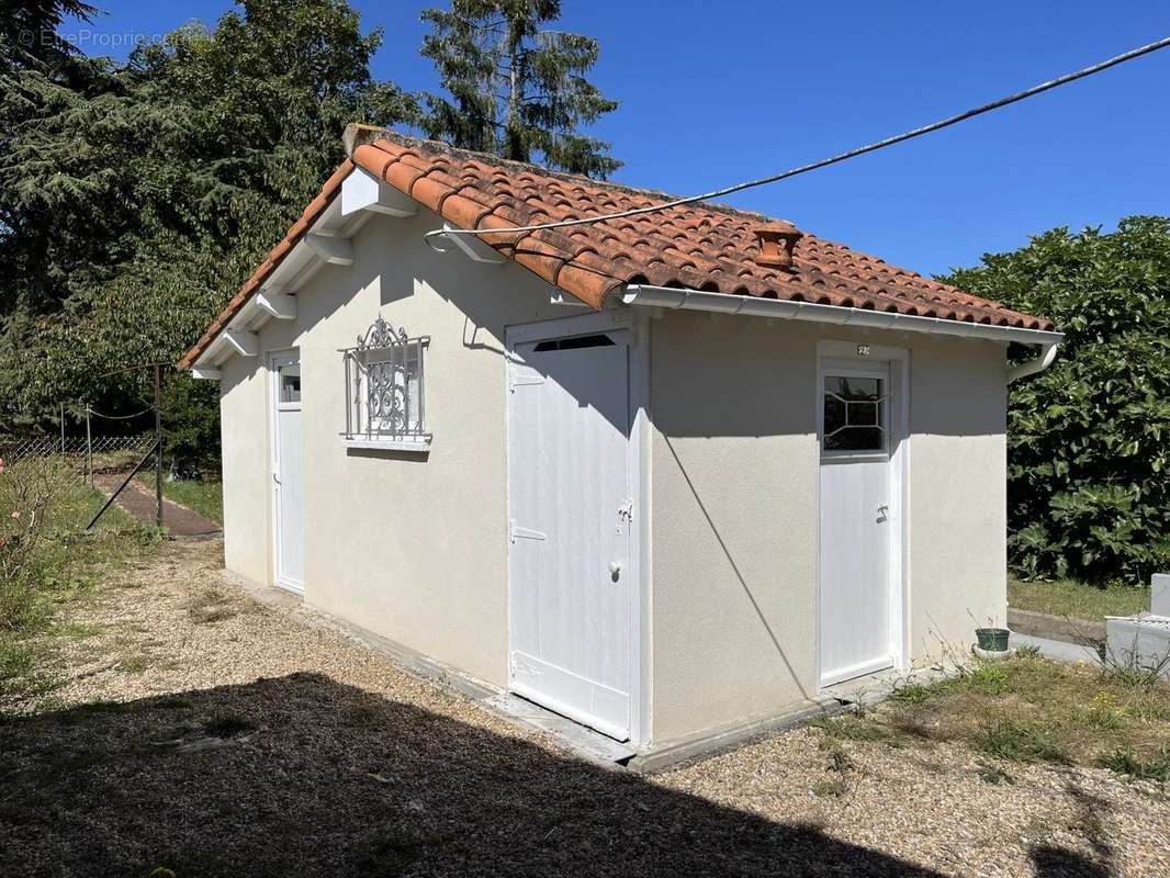
[[[820,369],[820,684],[895,664],[890,369]]]

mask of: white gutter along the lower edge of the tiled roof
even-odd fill
[[[741,314],[751,317],[773,317],[777,320],[806,320],[814,323],[832,323],[834,325],[861,327],[865,329],[929,332],[931,335],[949,335],[958,338],[986,338],[996,342],[1039,345],[1041,348],[1040,357],[1034,361],[1020,363],[1009,370],[1009,382],[1028,375],[1035,375],[1052,365],[1052,361],[1057,357],[1057,348],[1065,337],[1062,332],[1049,332],[1042,329],[997,327],[989,323],[968,323],[958,320],[943,320],[942,317],[918,317],[910,314],[874,311],[866,308],[844,308],[835,304],[817,304],[813,302],[789,302],[779,299],[703,293],[697,289],[651,287],[641,283],[627,284],[621,293],[621,301],[627,306],[677,308],[716,314]]]

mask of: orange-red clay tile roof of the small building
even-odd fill
[[[184,356],[181,368],[190,368],[206,350],[324,210],[353,165],[386,180],[459,228],[539,225],[672,200],[660,192],[556,173],[388,131],[366,139],[353,150],[352,163],[346,160],[337,169],[284,240]],[[1021,329],[1053,328],[1049,321],[1010,310],[808,232],[797,241],[791,267],[766,265],[766,259],[757,261],[760,249],[756,229],[769,221],[760,214],[708,203],[591,225],[480,238],[598,309],[610,293],[625,284],[648,283]]]

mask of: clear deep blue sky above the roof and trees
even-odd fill
[[[83,48],[116,56],[121,34],[214,22],[230,6],[92,1],[108,14],[88,26]],[[366,29],[385,29],[374,74],[436,89],[418,48],[419,12],[438,4],[355,5]],[[563,7],[564,29],[600,40],[592,78],[621,102],[593,130],[626,163],[614,179],[677,194],[824,158],[1170,35],[1170,5],[1148,0]],[[973,265],[1053,226],[1168,214],[1168,85],[1164,49],[729,201],[924,273]]]

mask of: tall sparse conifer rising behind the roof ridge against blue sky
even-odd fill
[[[542,28],[559,0],[452,0],[426,9],[422,55],[452,101],[427,95],[422,128],[455,146],[605,178],[621,166],[610,144],[581,135],[618,108],[585,76],[597,40]]]

